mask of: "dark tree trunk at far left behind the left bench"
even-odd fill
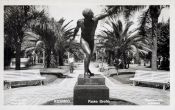
[[[21,65],[21,60],[20,60],[20,53],[21,53],[21,43],[17,42],[16,43],[16,64],[15,64],[15,69],[20,70],[20,65]]]

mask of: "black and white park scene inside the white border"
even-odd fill
[[[170,5],[3,5],[3,104],[169,106]]]

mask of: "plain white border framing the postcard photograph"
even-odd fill
[[[4,106],[3,105],[3,85],[2,85],[2,73],[3,73],[3,6],[4,5],[64,5],[64,4],[92,4],[92,5],[170,5],[170,80],[171,80],[171,89],[170,89],[170,105],[168,106]],[[41,109],[41,110],[53,110],[53,109],[70,109],[70,110],[81,110],[81,109],[96,109],[96,110],[175,110],[175,2],[174,0],[1,0],[0,1],[0,109],[9,109],[9,110],[27,110],[27,109]]]

